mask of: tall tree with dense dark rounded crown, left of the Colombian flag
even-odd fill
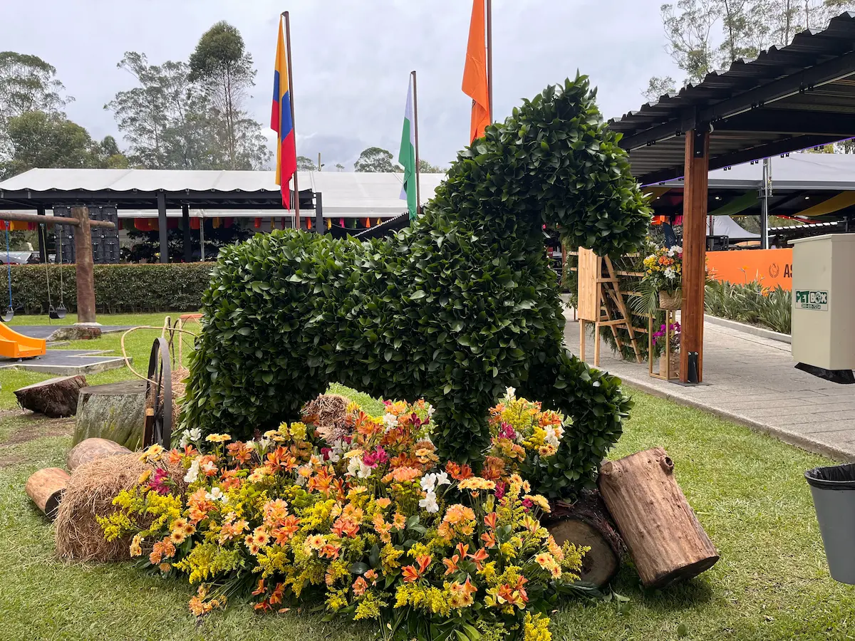
[[[238,29],[217,22],[190,56],[190,77],[211,101],[211,121],[231,169],[261,168],[270,157],[262,126],[246,113],[245,102],[255,85],[256,70]]]

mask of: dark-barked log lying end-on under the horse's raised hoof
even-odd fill
[[[581,580],[602,587],[620,569],[623,541],[598,491],[582,491],[575,503],[554,503],[545,526],[559,545],[591,548],[582,557]]]

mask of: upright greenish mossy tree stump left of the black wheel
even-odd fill
[[[86,438],[106,438],[139,450],[143,441],[145,382],[126,380],[80,390],[73,445]]]

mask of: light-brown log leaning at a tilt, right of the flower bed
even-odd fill
[[[605,462],[599,491],[647,587],[691,579],[718,561],[663,448]]]

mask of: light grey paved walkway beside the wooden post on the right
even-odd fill
[[[569,350],[579,352],[579,324],[569,315]],[[623,362],[606,344],[600,368],[628,385],[769,432],[805,450],[855,461],[855,385],[839,385],[794,368],[790,346],[737,329],[704,324],[704,382],[684,386],[653,379],[647,363]],[[586,345],[593,362],[593,337]]]

